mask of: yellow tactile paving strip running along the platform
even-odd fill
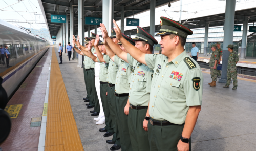
[[[83,150],[54,48],[52,51],[45,150]]]

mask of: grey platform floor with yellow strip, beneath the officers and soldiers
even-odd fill
[[[83,69],[77,68],[77,60],[68,61],[65,54],[63,64],[58,64],[58,49],[53,50],[53,53],[52,47],[48,50],[24,81],[24,88],[20,87],[9,101],[8,105],[23,104],[23,107],[18,117],[12,119],[11,134],[1,147],[5,151],[110,150],[112,145],[105,141],[112,137],[103,137],[104,133],[98,131],[104,125],[95,124],[82,100],[87,94]],[[239,77],[237,90],[222,88],[222,83],[209,87],[209,71],[202,69],[202,72],[202,110],[191,136],[192,150],[254,150],[256,80]],[[46,99],[48,113],[44,121]],[[42,118],[39,127],[30,127],[33,117]],[[42,132],[44,126],[46,131]],[[75,143],[76,147],[71,146]]]

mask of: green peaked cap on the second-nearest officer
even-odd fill
[[[133,38],[135,41],[146,41],[151,46],[154,44],[158,44],[157,40],[153,38],[153,36],[146,31],[144,31],[141,27],[137,26],[137,35]]]

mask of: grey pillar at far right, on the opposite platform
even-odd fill
[[[245,59],[246,44],[247,44],[247,27],[248,27],[248,18],[244,20],[244,24],[243,24],[243,36],[242,36],[240,59]]]

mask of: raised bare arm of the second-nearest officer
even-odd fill
[[[108,36],[108,32],[104,24],[100,23],[100,30],[102,31],[102,36],[105,38],[106,42],[108,42],[109,48],[121,59],[128,63],[127,53],[122,51],[122,49],[112,41],[112,39]],[[122,35],[121,35],[122,36]],[[125,39],[124,39],[125,40]],[[128,42],[128,41],[127,41]],[[130,44],[130,42],[128,42]],[[132,44],[131,44],[132,45]],[[109,54],[109,52],[108,52]],[[110,56],[110,55],[109,55]],[[113,60],[113,59],[112,59]]]

